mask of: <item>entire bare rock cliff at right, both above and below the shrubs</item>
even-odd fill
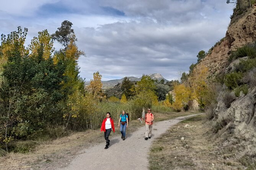
[[[209,77],[232,72],[234,65],[241,59],[228,62],[228,55],[236,48],[240,48],[256,41],[256,6],[249,8],[241,16],[236,16],[228,27],[225,38],[212,49],[197,64],[195,69],[208,68]],[[254,77],[256,74],[254,72]],[[234,91],[227,90],[223,85],[218,93],[217,105],[209,113],[212,115],[213,129],[223,140],[225,147],[237,149],[236,157],[256,155],[256,87],[250,86],[246,95],[241,91],[236,97]],[[228,136],[228,137],[227,137]]]

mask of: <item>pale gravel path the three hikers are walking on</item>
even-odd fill
[[[132,134],[126,134],[126,140],[124,141],[121,139],[121,135],[118,137],[109,136],[110,145],[108,149],[104,149],[106,141],[102,137],[103,143],[81,151],[81,154],[68,167],[59,170],[147,170],[147,153],[152,141],[163,134],[170,126],[194,115],[154,123],[151,139],[147,141],[144,140],[145,127],[139,128]],[[115,128],[116,133],[120,133],[119,128]]]

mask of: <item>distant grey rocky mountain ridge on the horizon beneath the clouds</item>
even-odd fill
[[[163,78],[163,76],[159,73],[154,73],[154,74],[149,74],[148,75],[151,79],[153,80],[158,80],[160,81],[161,79],[165,80],[165,82],[169,82],[168,80],[166,80],[165,78]],[[137,78],[137,77],[127,77],[130,81],[132,82],[138,82],[141,80],[142,77]],[[115,80],[108,80],[108,81],[102,81],[103,84],[103,88],[111,88],[114,87],[115,85],[117,85],[118,83],[122,83],[122,81],[124,80],[124,77],[122,79],[115,79]],[[85,85],[89,85],[90,82],[85,82]]]

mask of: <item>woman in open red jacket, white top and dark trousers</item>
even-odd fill
[[[101,132],[104,131],[104,138],[106,140],[106,147],[104,149],[108,149],[110,140],[108,139],[111,130],[115,133],[114,120],[111,118],[110,113],[106,113],[106,118],[103,119],[101,123]]]

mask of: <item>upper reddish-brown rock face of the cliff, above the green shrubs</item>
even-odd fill
[[[231,51],[256,41],[256,6],[230,23],[225,38],[216,43],[211,53],[205,56],[195,69],[207,67],[210,76],[222,73],[229,64],[228,55]]]

